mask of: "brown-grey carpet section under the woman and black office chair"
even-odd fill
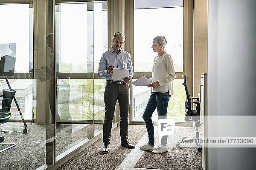
[[[175,133],[168,137],[168,152],[153,154],[144,151],[136,168],[151,168],[163,170],[202,170],[202,152],[198,152],[196,144],[175,144],[183,136],[195,136],[195,129],[189,127],[175,127]],[[155,144],[160,145],[158,133],[155,135]]]

